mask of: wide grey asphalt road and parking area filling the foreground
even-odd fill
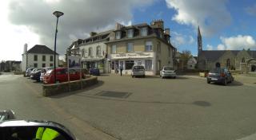
[[[40,84],[21,76],[0,76],[0,107],[14,108],[19,118],[64,122],[80,139],[93,137],[79,122],[125,140],[255,139],[253,84],[236,81],[222,86],[186,77],[98,79],[92,88],[45,98]]]

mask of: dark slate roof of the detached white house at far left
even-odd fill
[[[27,53],[54,54],[54,51],[46,45],[34,45],[34,47],[28,50]]]

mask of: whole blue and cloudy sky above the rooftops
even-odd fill
[[[65,54],[78,38],[92,31],[162,19],[170,41],[197,56],[198,26],[204,50],[256,50],[254,0],[8,0],[0,2],[0,60],[22,60],[23,46],[54,48],[55,10],[57,52]]]

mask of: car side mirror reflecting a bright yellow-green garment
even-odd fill
[[[0,123],[0,139],[75,140],[65,126],[48,121],[5,121]]]

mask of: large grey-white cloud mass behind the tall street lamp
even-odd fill
[[[105,29],[112,29],[116,21],[130,25],[133,20],[133,10],[143,10],[146,6],[152,5],[154,1],[1,1],[0,34],[2,41],[5,42],[2,42],[1,45],[0,60],[21,60],[17,58],[21,58],[25,43],[29,43],[31,47],[35,44],[42,44],[53,49],[56,17],[52,13],[55,10],[64,13],[59,18],[57,38],[57,50],[63,54],[74,39],[86,38],[88,37],[86,35],[92,31],[100,32]],[[17,31],[14,30],[14,27]],[[10,49],[12,53],[8,52]]]

